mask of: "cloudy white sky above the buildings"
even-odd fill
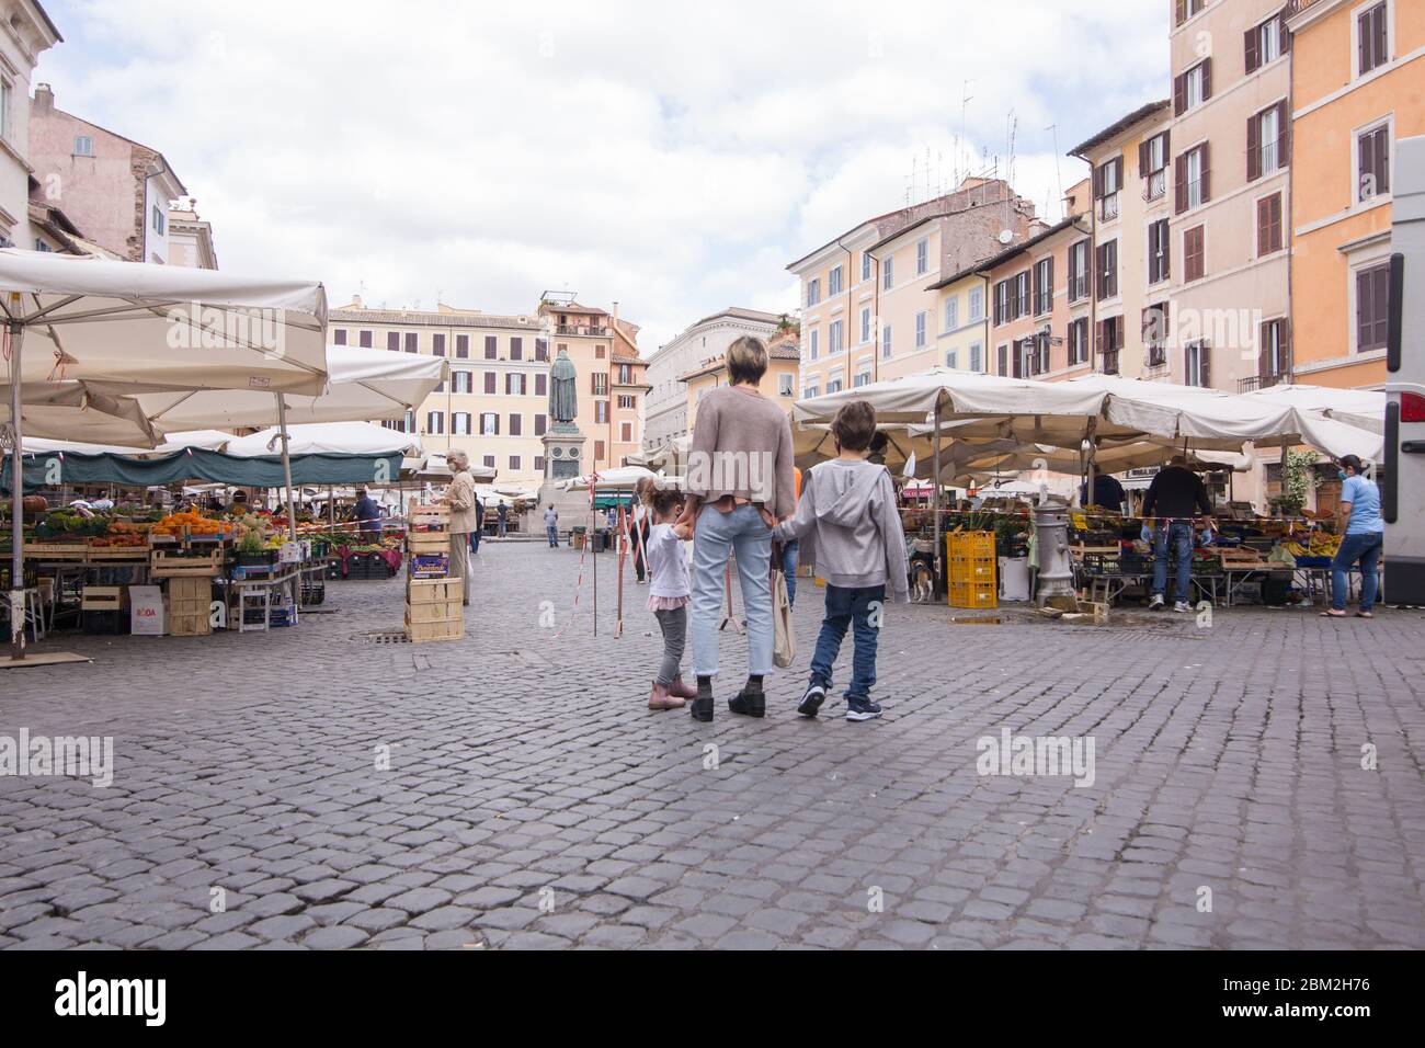
[[[1057,217],[1064,151],[1168,88],[1167,0],[46,9],[66,43],[36,80],[168,157],[222,268],[333,304],[577,291],[644,354],[725,305],[792,309],[787,262],[908,191],[1005,174],[1012,118],[1015,185]]]

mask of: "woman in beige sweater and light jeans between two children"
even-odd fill
[[[722,577],[737,556],[747,622],[747,684],[728,700],[732,713],[767,711],[762,679],[772,670],[772,526],[795,506],[792,429],[787,412],[762,396],[767,346],[750,337],[727,348],[730,385],[698,405],[688,449],[688,499],[678,523],[693,526],[693,664],[698,690],[690,710],[712,720],[718,670]]]

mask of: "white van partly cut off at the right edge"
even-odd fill
[[[1395,160],[1385,358],[1385,596],[1425,605],[1425,135]]]

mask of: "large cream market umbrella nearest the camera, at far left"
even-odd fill
[[[24,412],[30,382],[316,395],[326,382],[326,292],[315,281],[0,250],[11,453],[10,649],[24,659]],[[113,391],[107,391],[113,392]],[[291,489],[291,483],[288,485]]]

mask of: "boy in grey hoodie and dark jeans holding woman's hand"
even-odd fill
[[[811,683],[797,707],[815,717],[831,687],[846,629],[855,636],[846,720],[871,720],[881,707],[871,702],[876,683],[876,640],[886,596],[909,602],[905,529],[895,505],[895,485],[885,466],[866,461],[876,435],[876,412],[852,401],[831,423],[836,458],[811,469],[797,515],[777,525],[774,539],[787,542],[817,533],[817,575],[826,580],[826,612],[811,660]]]

